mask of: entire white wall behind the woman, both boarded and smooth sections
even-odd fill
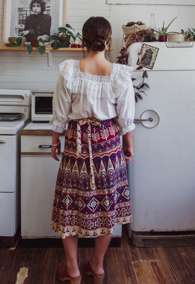
[[[113,29],[111,61],[116,62],[122,43],[122,24],[128,21],[141,20],[149,26],[150,14],[155,14],[157,26],[163,20],[169,23],[174,17],[178,18],[171,27],[175,31],[181,28],[195,28],[195,6],[185,5],[110,5],[107,0],[67,0],[66,22],[76,32],[82,33],[82,26],[90,16],[103,16],[111,22]],[[129,1],[131,3],[131,1]],[[3,38],[4,0],[0,0],[0,46]],[[172,30],[172,29],[171,29]],[[65,59],[82,58],[82,52],[53,52],[52,67],[48,66],[46,53],[39,52],[29,55],[26,51],[0,51],[0,88],[16,89],[54,89],[59,75],[58,64]]]

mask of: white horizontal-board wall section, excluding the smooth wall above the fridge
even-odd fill
[[[0,46],[3,36],[4,0],[0,0]],[[66,22],[82,34],[82,26],[90,16],[111,20],[107,0],[67,0]],[[52,52],[52,67],[46,53],[0,51],[0,89],[55,89],[59,76],[58,64],[65,59],[80,59],[82,52]]]

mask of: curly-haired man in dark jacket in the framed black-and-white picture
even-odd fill
[[[26,37],[27,42],[39,36],[44,41],[49,41],[51,16],[43,14],[46,2],[43,0],[32,0],[29,6],[33,14],[26,17],[24,31],[21,32],[21,36]]]

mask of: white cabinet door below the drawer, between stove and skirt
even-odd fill
[[[58,236],[50,224],[59,165],[52,157],[21,157],[22,237]]]

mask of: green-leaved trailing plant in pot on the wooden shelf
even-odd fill
[[[48,45],[51,45],[53,47],[53,50],[58,49],[60,47],[69,47],[70,45],[70,38],[72,37],[73,41],[75,41],[76,38],[79,38],[81,40],[81,35],[77,33],[74,35],[69,29],[74,30],[69,24],[65,25],[64,27],[58,28],[58,33],[54,33],[54,35],[50,36],[50,41],[48,44],[41,46],[40,43],[45,44],[44,40],[41,37],[37,38],[38,49],[41,55],[45,52],[45,47]],[[75,30],[74,30],[75,31]],[[22,43],[22,36],[18,37],[14,43],[12,43],[12,47],[14,48],[20,48]],[[27,50],[29,54],[33,51],[33,46],[31,44],[27,45]]]

